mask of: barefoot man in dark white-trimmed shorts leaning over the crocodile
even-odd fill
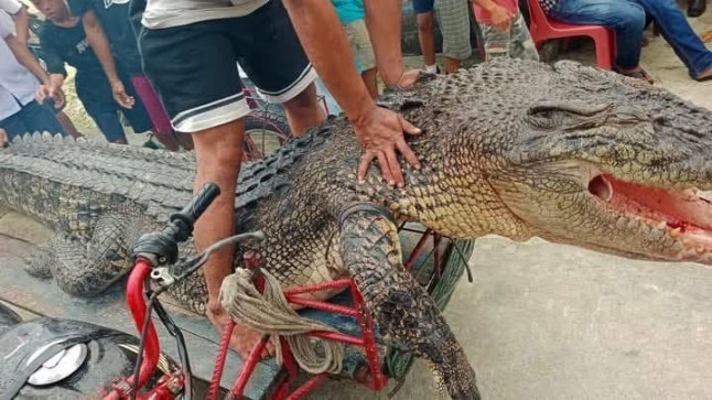
[[[356,71],[334,7],[323,0],[132,0],[143,69],[154,84],[173,127],[193,133],[197,161],[195,188],[205,182],[220,195],[195,226],[198,250],[235,231],[237,176],[242,154],[245,116],[236,62],[269,101],[282,102],[295,134],[324,119],[319,107],[312,63],[338,101],[364,148],[356,175],[364,180],[378,160],[390,185],[403,185],[397,160],[418,159],[403,132],[420,131],[400,115],[377,107]],[[366,0],[376,62],[387,85],[411,85],[418,72],[404,72],[400,52],[400,0]],[[291,21],[290,21],[291,19]],[[293,24],[292,24],[293,23]],[[303,45],[303,47],[302,47]],[[308,57],[309,55],[309,57]],[[310,62],[311,60],[311,62]],[[219,303],[223,279],[233,271],[234,248],[213,255],[204,267],[207,316],[222,332],[229,316]],[[230,347],[245,357],[259,335],[234,331]]]

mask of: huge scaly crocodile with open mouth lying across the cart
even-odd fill
[[[381,100],[424,129],[409,139],[422,167],[402,163],[407,185],[388,186],[376,167],[358,183],[359,145],[347,120],[332,120],[244,166],[237,228],[267,239],[238,252],[257,249],[284,287],[353,275],[380,331],[431,361],[453,398],[478,398],[475,374],[403,270],[395,221],[712,264],[712,206],[697,192],[712,188],[710,110],[572,62],[509,60]],[[60,234],[32,273],[89,295],[127,272],[140,233],[188,201],[194,161],[33,137],[0,153],[0,171],[2,204]],[[203,311],[199,275],[173,294]]]

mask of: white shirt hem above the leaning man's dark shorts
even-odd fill
[[[149,29],[161,29],[245,17],[268,2],[269,0],[148,0],[141,23]]]

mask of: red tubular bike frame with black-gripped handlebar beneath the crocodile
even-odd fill
[[[227,239],[223,239],[208,247],[195,259],[184,262],[182,267],[186,269],[180,275],[172,277],[169,273],[168,278],[170,279],[166,280],[165,275],[163,275],[162,273],[166,272],[168,269],[165,269],[164,267],[159,267],[159,263],[174,263],[176,257],[163,257],[163,252],[161,252],[160,247],[165,245],[166,238],[169,239],[169,241],[171,238],[174,238],[174,242],[169,242],[168,246],[162,248],[162,250],[165,250],[166,253],[170,253],[171,251],[177,253],[177,242],[184,241],[190,237],[195,219],[197,219],[197,217],[205,210],[205,208],[207,208],[207,205],[209,205],[212,199],[217,196],[216,193],[219,193],[219,190],[217,190],[217,186],[215,186],[213,188],[213,193],[209,192],[211,190],[206,185],[206,187],[201,191],[201,193],[190,205],[187,205],[182,212],[171,216],[170,223],[166,225],[166,227],[163,228],[163,230],[158,234],[152,233],[144,235],[144,237],[148,237],[147,240],[143,240],[143,237],[139,240],[139,242],[141,242],[142,240],[144,241],[143,247],[138,244],[134,247],[134,266],[127,283],[127,306],[131,312],[131,317],[134,322],[137,331],[141,335],[141,345],[139,347],[137,367],[133,376],[120,377],[112,381],[110,385],[110,391],[104,396],[105,400],[123,400],[129,398],[169,400],[174,399],[181,393],[183,393],[184,398],[186,399],[190,399],[192,397],[191,366],[180,328],[173,324],[165,310],[162,309],[160,301],[158,301],[158,295],[170,284],[184,279],[191,273],[194,273],[201,266],[205,263],[205,261],[207,261],[212,252],[216,251],[220,247],[228,244],[236,244],[247,238],[253,238],[258,240],[263,239],[263,235],[261,233],[241,234]],[[211,196],[213,196],[213,198],[206,199]],[[422,237],[420,238],[404,263],[406,270],[411,270],[414,260],[422,252],[427,239],[432,237],[433,249],[431,252],[435,255],[434,273],[440,277],[443,266],[439,260],[439,244],[441,242],[442,237],[434,235],[430,230],[420,231],[409,229],[404,227],[404,224],[402,224],[398,230],[417,231],[422,234]],[[157,240],[157,242],[160,246],[157,246],[154,241],[151,241]],[[147,246],[147,244],[150,244],[150,246]],[[157,248],[159,249],[157,250]],[[263,277],[259,274],[259,255],[253,251],[246,251],[242,257],[242,266],[256,271],[255,284],[256,288],[261,292],[263,290],[265,283]],[[162,269],[163,271],[161,271]],[[151,288],[151,280],[154,280],[155,283],[158,283],[159,289],[153,290]],[[314,293],[333,289],[349,290],[353,306],[344,306],[328,303],[326,301],[316,301],[300,296],[304,293]],[[381,390],[386,387],[389,378],[385,374],[380,363],[378,344],[376,342],[375,324],[366,310],[364,299],[362,298],[360,292],[358,291],[358,288],[356,287],[356,283],[353,279],[341,279],[336,281],[324,282],[321,284],[292,288],[284,291],[284,296],[288,302],[293,305],[321,310],[327,313],[341,314],[356,318],[360,328],[360,335],[324,331],[313,331],[306,333],[306,335],[363,347],[364,353],[366,354],[366,366],[364,366],[365,368],[357,369],[354,379],[376,391]],[[176,338],[179,344],[179,353],[181,355],[181,368],[171,374],[161,376],[157,380],[157,383],[151,388],[144,388],[147,382],[149,382],[151,378],[154,377],[158,360],[161,355],[160,340],[155,331],[155,326],[150,318],[151,310],[157,311],[157,314],[161,318],[161,322]],[[231,335],[234,326],[234,323],[228,324],[222,335],[220,346],[218,349],[214,374],[208,390],[209,394],[207,398],[209,400],[215,399],[219,390],[223,367],[226,354],[228,352],[229,337]],[[238,377],[236,377],[235,383],[231,386],[231,389],[229,391],[230,396],[237,398],[242,396],[248,380],[252,376],[257,364],[260,361],[260,356],[268,340],[269,336],[265,335],[262,339],[252,348]],[[300,370],[299,365],[296,364],[287,343],[281,342],[281,344],[284,369],[288,374],[285,380],[280,382],[277,388],[277,391],[274,393],[276,399],[299,399],[301,396],[312,391],[316,386],[328,378],[328,374],[326,372],[314,376],[308,382],[290,392],[292,385],[296,381]],[[183,349],[183,352],[181,352],[181,349]],[[139,391],[141,390],[143,391],[139,393]]]

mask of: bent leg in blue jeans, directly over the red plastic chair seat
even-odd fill
[[[645,11],[639,4],[619,0],[559,1],[552,18],[572,24],[595,24],[616,33],[616,67],[622,72],[639,68]]]

